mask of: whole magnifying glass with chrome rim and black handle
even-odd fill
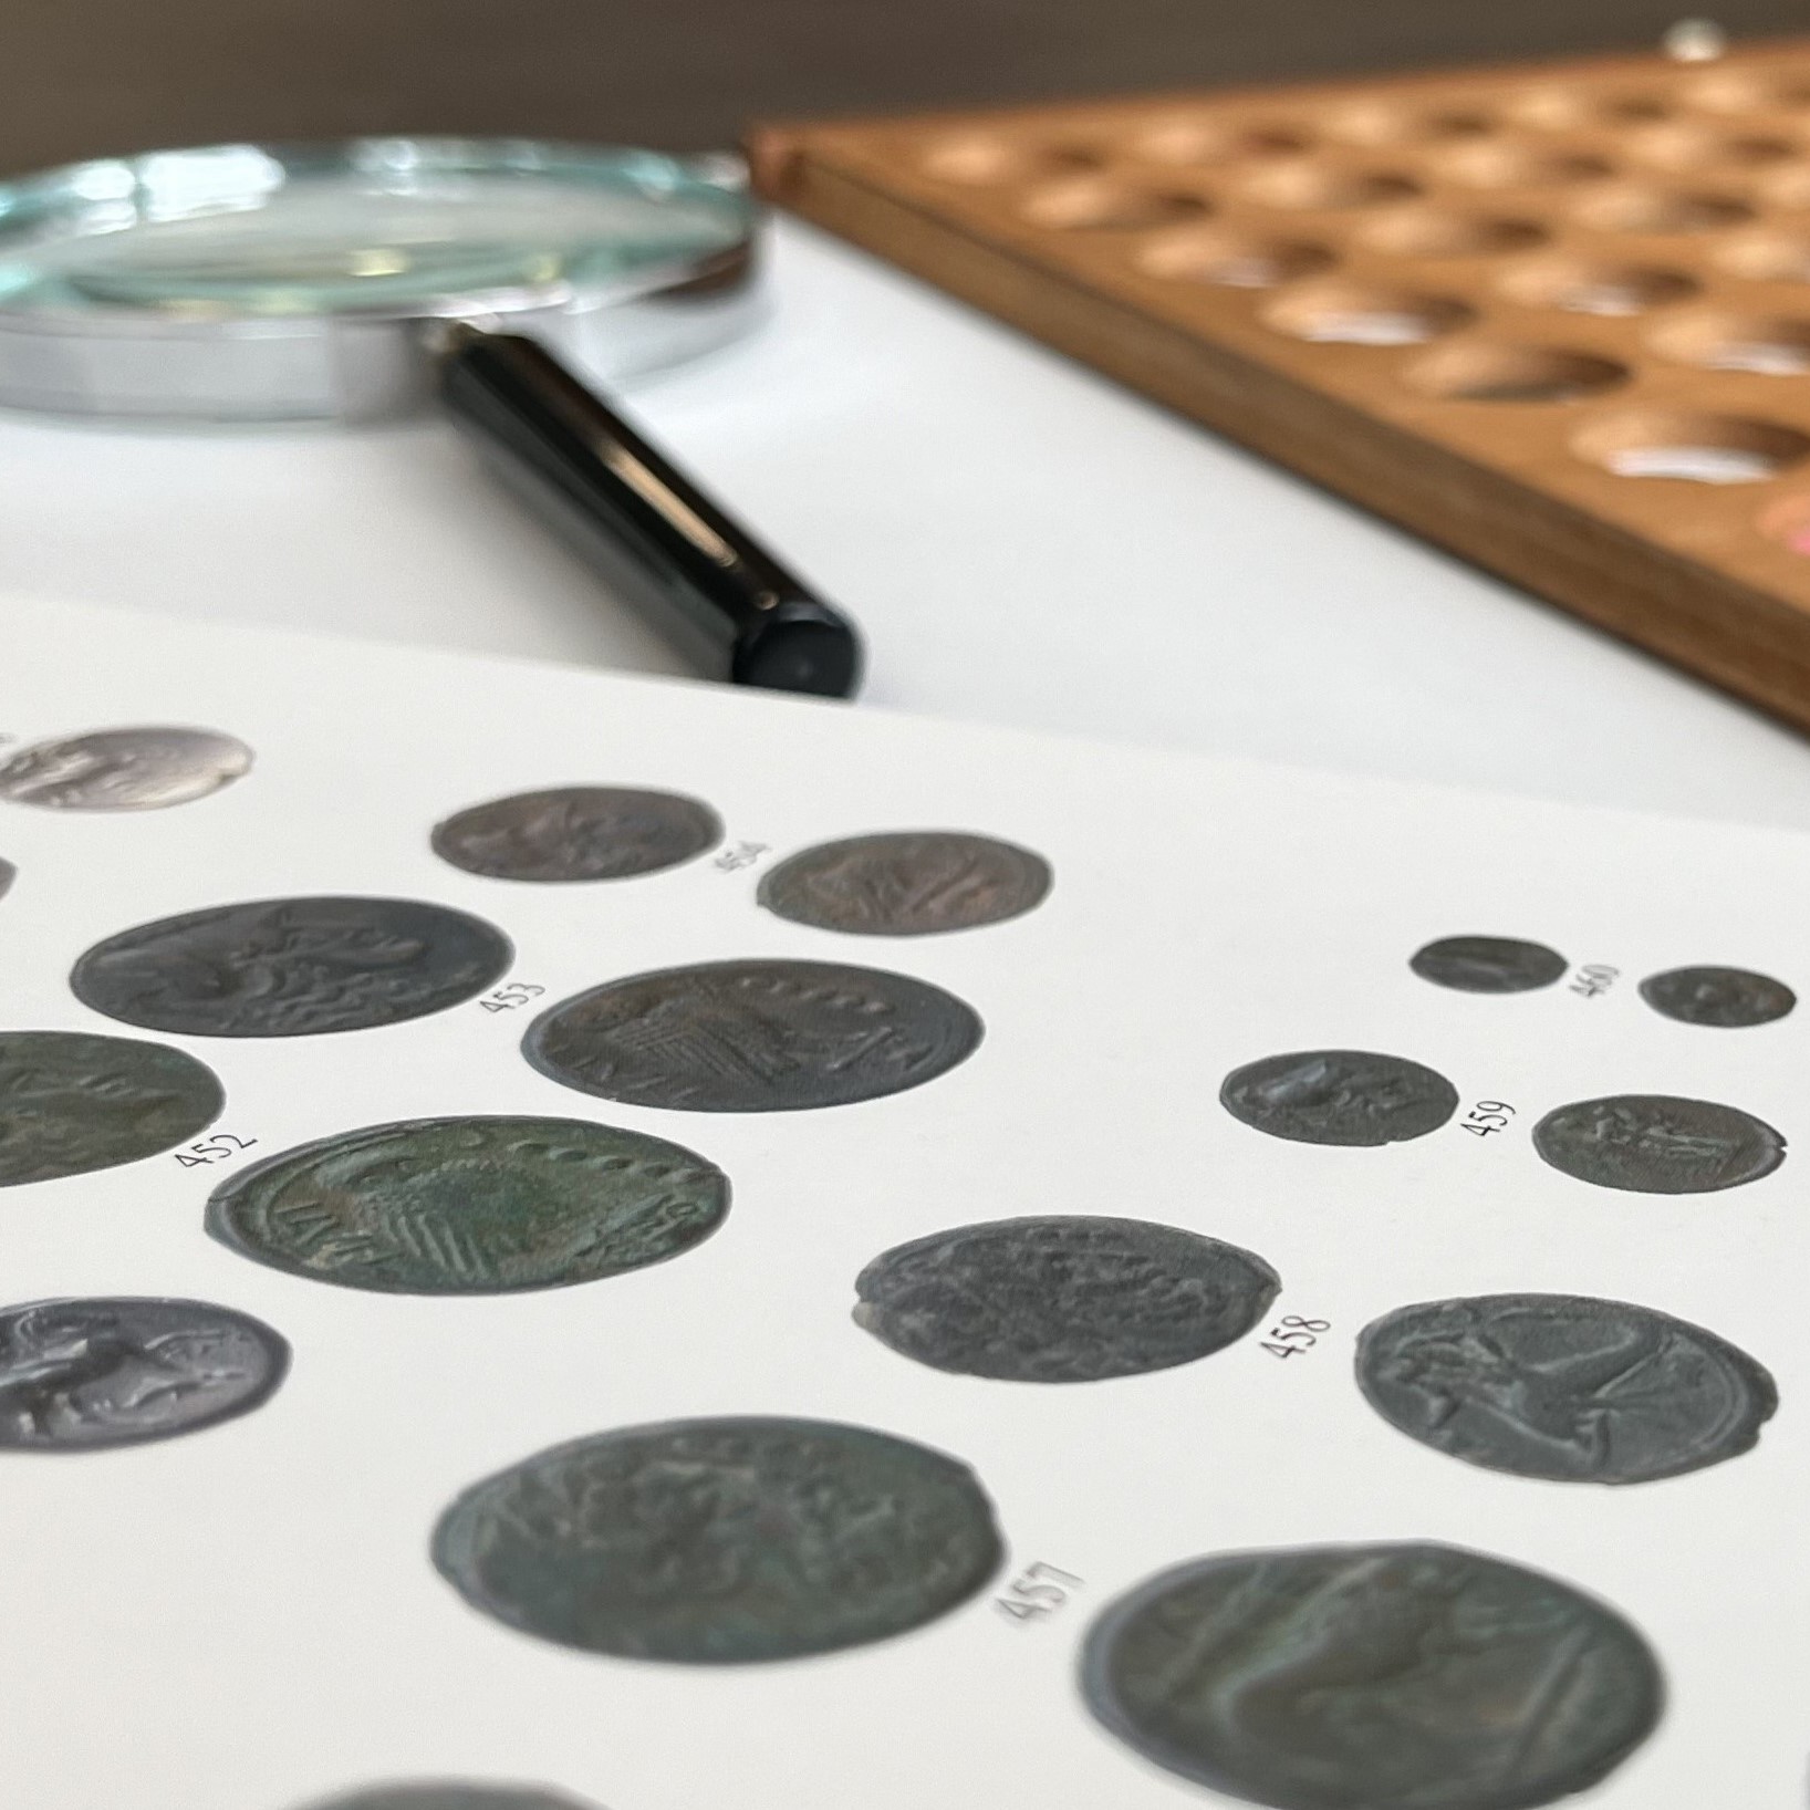
[[[853,695],[860,639],[565,360],[605,380],[757,313],[731,157],[371,138],[105,157],[0,183],[0,407],[371,422],[438,400],[706,672]]]

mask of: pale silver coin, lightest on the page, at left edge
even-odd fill
[[[52,811],[163,811],[250,771],[252,749],[217,729],[96,729],[0,762],[0,798]]]

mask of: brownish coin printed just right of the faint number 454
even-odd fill
[[[939,936],[1021,918],[1050,892],[1050,863],[992,836],[923,829],[849,836],[780,862],[755,894],[793,923],[851,936]]]

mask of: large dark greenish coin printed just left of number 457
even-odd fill
[[[974,1473],[863,1426],[672,1421],[556,1446],[467,1490],[434,1564],[500,1622],[691,1665],[885,1640],[999,1567]]]

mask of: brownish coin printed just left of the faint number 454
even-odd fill
[[[630,880],[722,842],[708,804],[679,793],[559,786],[476,804],[434,825],[443,862],[491,880]]]

